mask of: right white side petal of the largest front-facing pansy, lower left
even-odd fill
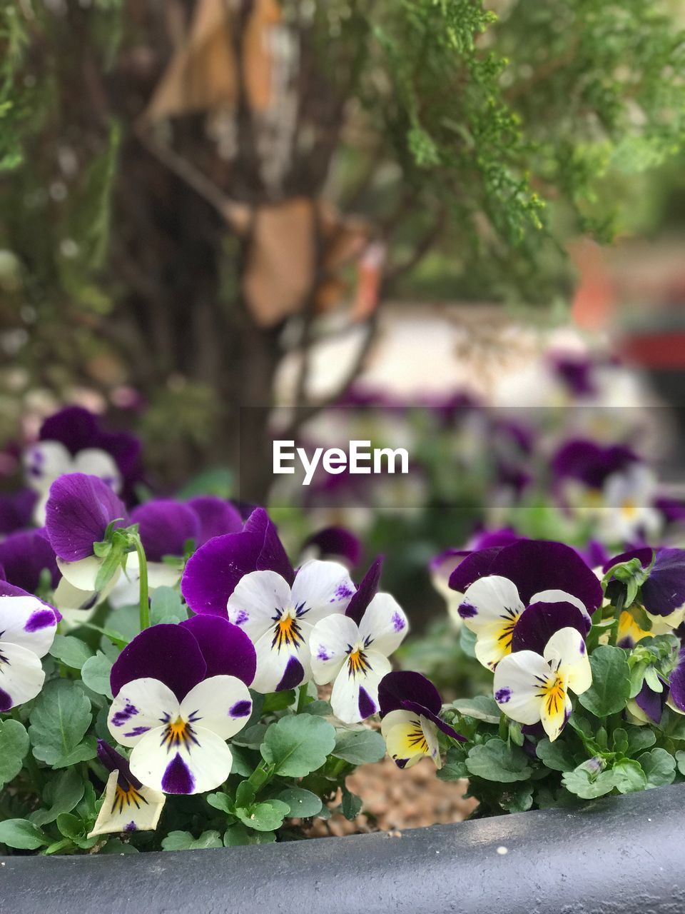
[[[228,739],[248,723],[252,699],[236,676],[210,676],[195,685],[181,702],[181,717]]]

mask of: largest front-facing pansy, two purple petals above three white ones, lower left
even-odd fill
[[[252,711],[256,656],[226,619],[195,616],[145,629],[111,669],[108,726],[131,746],[132,775],[163,793],[204,793],[226,781],[226,740]]]

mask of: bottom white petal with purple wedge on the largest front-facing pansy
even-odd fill
[[[226,742],[204,728],[193,728],[192,739],[169,747],[165,729],[147,733],[131,753],[132,775],[163,793],[205,793],[226,781],[233,756]]]

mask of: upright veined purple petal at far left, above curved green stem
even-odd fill
[[[74,562],[93,554],[93,543],[107,526],[126,517],[126,508],[97,476],[68,473],[50,486],[46,507],[46,530],[59,558]]]

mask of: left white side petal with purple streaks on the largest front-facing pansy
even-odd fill
[[[121,746],[135,746],[143,736],[167,720],[176,720],[180,713],[178,699],[168,685],[159,679],[133,679],[122,685],[115,696],[107,726]]]

